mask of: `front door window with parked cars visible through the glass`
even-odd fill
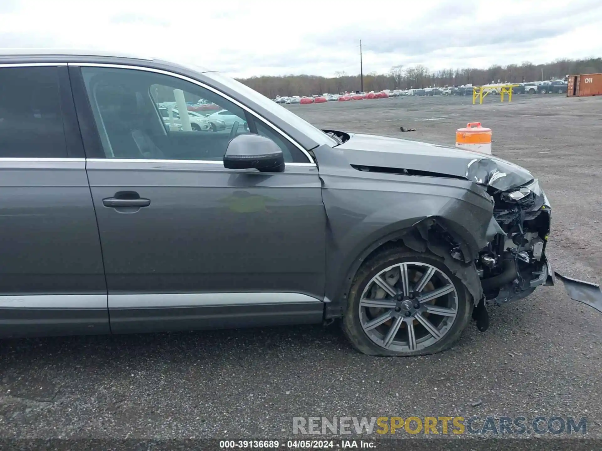
[[[232,136],[257,132],[276,141],[285,161],[308,162],[271,127],[256,127],[260,121],[240,106],[199,85],[143,70],[81,70],[107,158],[222,161]],[[168,108],[177,110],[172,116],[177,123],[160,112]],[[200,116],[182,117],[184,110]],[[223,120],[212,119],[216,112]]]

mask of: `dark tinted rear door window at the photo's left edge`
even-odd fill
[[[0,69],[0,158],[66,158],[57,67]]]

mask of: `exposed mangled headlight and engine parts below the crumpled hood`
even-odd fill
[[[537,179],[520,188],[488,187],[493,216],[505,233],[495,235],[476,261],[486,302],[521,299],[542,284],[551,284],[545,258],[551,207]]]

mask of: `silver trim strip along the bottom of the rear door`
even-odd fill
[[[45,309],[103,309],[108,305],[107,295],[14,295],[0,296],[0,308]]]

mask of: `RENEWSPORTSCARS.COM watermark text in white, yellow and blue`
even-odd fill
[[[587,434],[586,417],[293,417],[293,434]]]

